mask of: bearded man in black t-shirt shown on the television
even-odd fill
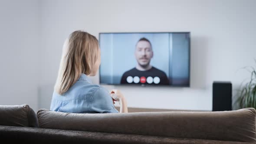
[[[139,83],[139,84],[158,84],[168,85],[167,75],[150,65],[153,57],[152,45],[146,38],[141,38],[136,44],[135,58],[137,65],[122,75],[121,84]]]

